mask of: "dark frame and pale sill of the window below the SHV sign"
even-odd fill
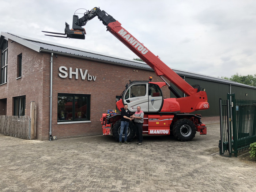
[[[88,94],[67,94],[67,93],[58,93],[58,98],[57,98],[57,123],[74,123],[77,122],[79,123],[80,121],[90,121],[90,96]],[[59,120],[59,97],[72,97],[72,120]],[[87,106],[86,106],[86,118],[75,118],[75,102],[76,102],[76,97],[86,97],[87,98]]]

